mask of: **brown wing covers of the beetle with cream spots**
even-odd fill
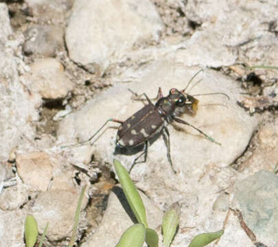
[[[163,118],[154,105],[148,104],[126,119],[117,132],[117,143],[125,147],[141,145],[163,125]]]

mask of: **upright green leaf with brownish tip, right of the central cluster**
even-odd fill
[[[172,204],[163,215],[162,231],[163,231],[163,246],[169,247],[174,235],[178,222],[181,216],[181,205],[178,202]]]

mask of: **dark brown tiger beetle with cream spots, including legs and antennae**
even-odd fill
[[[198,73],[200,71],[198,71]],[[148,155],[148,145],[151,145],[161,134],[163,134],[163,139],[167,147],[167,159],[170,162],[173,172],[176,174],[170,154],[170,133],[167,129],[167,124],[170,124],[172,121],[185,124],[200,132],[200,134],[205,136],[209,141],[221,145],[213,138],[202,132],[202,130],[192,126],[192,124],[189,124],[187,121],[178,118],[178,116],[182,115],[183,113],[196,113],[198,99],[196,99],[194,96],[220,94],[229,98],[229,96],[225,93],[205,93],[198,95],[189,95],[185,93],[185,90],[189,86],[190,82],[192,82],[198,73],[196,73],[194,77],[188,82],[185,89],[181,91],[178,91],[178,89],[170,89],[169,95],[166,97],[163,97],[161,88],[159,88],[156,97],[158,100],[155,104],[152,103],[151,99],[146,95],[146,93],[143,93],[143,95],[146,97],[146,100],[148,101],[148,104],[143,106],[143,108],[138,110],[137,113],[131,117],[128,117],[126,121],[112,118],[108,119],[90,139],[82,142],[81,144],[91,141],[91,139],[93,139],[93,137],[95,137],[97,133],[100,132],[100,130],[102,130],[106,124],[108,124],[109,121],[119,123],[120,126],[117,130],[114,154],[132,155],[137,154],[143,150],[143,152],[139,154],[139,156],[135,158],[135,161],[132,163],[132,166],[129,169],[130,172],[136,163],[146,162]],[[138,97],[137,93],[133,94]],[[93,143],[94,142],[95,141],[93,141]],[[93,143],[91,143],[91,145],[93,145]],[[143,156],[143,161],[137,162],[141,156]]]

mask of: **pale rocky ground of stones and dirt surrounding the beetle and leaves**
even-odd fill
[[[278,246],[276,1],[10,0],[0,3],[0,246],[25,246],[27,213],[45,246],[67,246],[81,188],[77,246],[115,246],[132,224],[114,187],[119,124],[161,87],[196,96],[196,115],[170,125],[130,176],[149,224],[181,204],[172,246],[224,228],[210,246]],[[264,65],[264,67],[262,67]],[[261,67],[257,67],[261,66]],[[109,128],[108,128],[109,127]],[[114,187],[114,188],[113,188]]]

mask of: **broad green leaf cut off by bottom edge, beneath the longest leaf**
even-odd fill
[[[143,224],[134,224],[126,229],[115,247],[142,247],[146,237]]]

